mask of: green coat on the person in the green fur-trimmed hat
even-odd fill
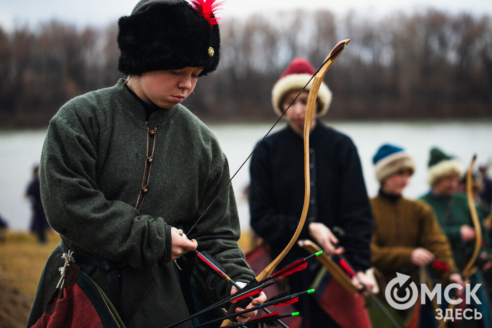
[[[434,210],[442,226],[442,230],[451,242],[456,264],[462,270],[470,259],[473,248],[475,247],[474,240],[464,242],[461,239],[461,226],[466,224],[473,227],[466,197],[462,194],[455,194],[452,197],[437,197],[432,193],[428,193],[420,199],[429,204]],[[482,227],[483,231],[484,229]],[[487,233],[482,233],[486,244],[490,244],[487,235]]]

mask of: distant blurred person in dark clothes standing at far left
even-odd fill
[[[30,231],[34,233],[40,243],[46,242],[46,231],[50,225],[46,220],[43,204],[41,203],[41,192],[39,189],[39,165],[32,169],[32,179],[26,189],[26,197],[31,202],[32,216]]]

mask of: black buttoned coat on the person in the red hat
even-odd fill
[[[372,216],[357,149],[346,135],[317,120],[309,136],[311,196],[299,239],[308,239],[308,223],[340,227],[340,245],[356,270],[370,267]],[[292,238],[304,203],[303,137],[289,126],[266,138],[250,166],[250,213],[255,233],[277,256]],[[295,245],[287,264],[305,251]]]

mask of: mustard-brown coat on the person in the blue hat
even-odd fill
[[[436,271],[442,281],[447,282],[451,273],[458,272],[449,241],[429,206],[405,198],[392,201],[381,195],[370,203],[374,217],[372,263],[383,273],[386,283],[400,272],[420,284],[418,267],[411,262],[411,253],[417,247],[430,250],[449,266],[449,271]]]

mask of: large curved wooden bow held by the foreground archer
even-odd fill
[[[318,72],[314,76],[312,86],[309,89],[309,94],[307,96],[306,116],[304,118],[304,177],[305,177],[304,191],[305,193],[304,193],[304,206],[301,214],[301,219],[299,220],[299,224],[297,225],[297,229],[296,232],[294,233],[294,236],[292,236],[287,246],[272,263],[270,263],[265,269],[263,269],[263,271],[260,272],[260,274],[256,276],[256,281],[265,279],[266,277],[268,277],[273,273],[275,268],[277,268],[277,265],[283,260],[285,255],[287,255],[287,253],[290,251],[292,246],[294,246],[294,243],[299,238],[299,235],[301,234],[301,231],[304,227],[304,223],[306,222],[307,209],[309,208],[309,197],[311,191],[310,179],[309,179],[309,132],[311,127],[311,119],[314,112],[314,105],[316,104],[318,90],[319,87],[321,86],[321,82],[323,82],[323,78],[326,72],[333,64],[333,62],[337,59],[338,55],[343,51],[345,45],[348,44],[349,42],[350,39],[346,39],[338,42],[338,44],[335,46],[335,48],[332,49],[330,54],[326,57],[323,65],[319,68]],[[231,324],[233,324],[231,321],[226,320],[222,323],[220,327],[229,326]]]

